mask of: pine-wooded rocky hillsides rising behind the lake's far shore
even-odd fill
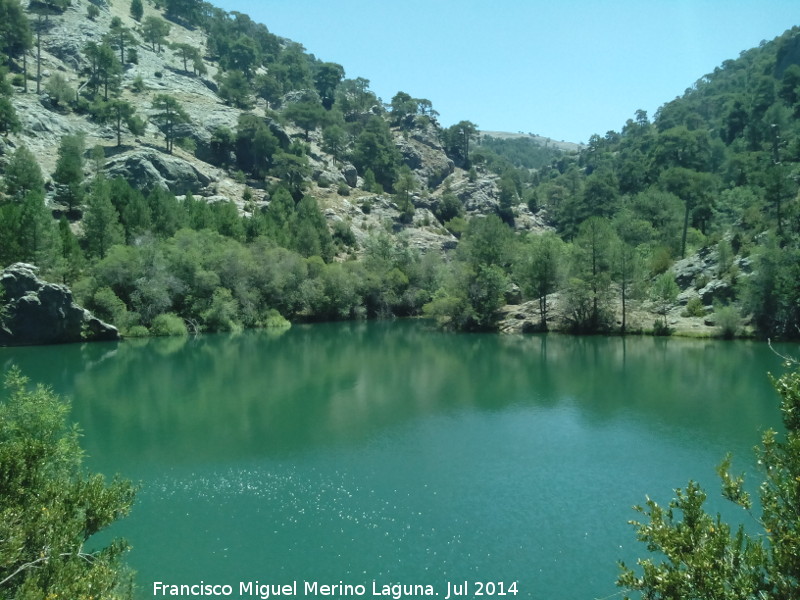
[[[0,42],[0,266],[124,335],[519,306],[800,337],[798,28],[577,150],[443,127],[199,0],[0,0]]]

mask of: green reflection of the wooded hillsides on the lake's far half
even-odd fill
[[[774,426],[762,399],[781,368],[754,342],[449,335],[420,322],[1,352],[74,396],[90,453],[135,447],[148,461],[355,444],[423,415],[513,405],[737,437]]]

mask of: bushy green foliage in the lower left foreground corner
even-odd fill
[[[0,397],[0,593],[7,598],[131,598],[127,544],[85,545],[128,514],[135,490],[82,466],[69,406],[12,368]]]

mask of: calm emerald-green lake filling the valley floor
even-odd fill
[[[646,553],[631,506],[695,479],[746,522],[714,468],[732,452],[757,475],[780,424],[782,361],[758,342],[403,321],[0,348],[12,362],[73,400],[91,469],[141,482],[111,533],[142,598],[201,581],[606,598]]]

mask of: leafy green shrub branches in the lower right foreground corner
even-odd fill
[[[800,598],[800,371],[774,380],[781,397],[785,439],[764,433],[757,448],[764,475],[759,489],[762,532],[735,532],[703,508],[695,482],[664,508],[651,499],[635,507],[645,522],[631,521],[637,538],[660,555],[639,559],[641,574],[620,563],[617,585],[645,600],[792,600]],[[730,457],[718,468],[722,495],[746,511],[752,503],[742,476],[732,476]]]

